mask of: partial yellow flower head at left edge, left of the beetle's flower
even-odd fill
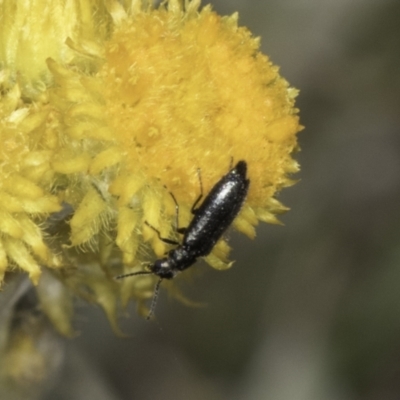
[[[61,209],[49,190],[52,154],[35,145],[48,112],[22,104],[17,85],[7,89],[0,102],[0,282],[7,268],[16,265],[37,283],[40,264],[61,265],[45,244],[40,225]]]

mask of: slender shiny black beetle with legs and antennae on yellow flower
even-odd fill
[[[178,233],[183,234],[181,243],[163,238],[156,228],[146,222],[150,228],[157,232],[160,240],[177,246],[170,250],[166,257],[150,264],[148,271],[132,272],[116,277],[116,279],[122,279],[134,275],[154,274],[160,278],[154,289],[154,296],[147,319],[150,319],[154,312],[162,280],[174,278],[179,272],[193,265],[199,257],[205,257],[210,254],[217,241],[238,215],[246,199],[250,184],[246,173],[246,162],[239,161],[234,168],[214,185],[201,205],[196,208],[203,197],[203,187],[200,179],[201,193],[191,210],[194,217],[187,228],[177,228]],[[178,223],[178,203],[172,193],[171,196],[176,205],[176,220]]]

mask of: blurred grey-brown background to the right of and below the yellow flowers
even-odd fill
[[[300,89],[297,185],[285,226],[231,232],[157,320],[112,332],[89,305],[45,400],[400,398],[400,2],[214,0],[261,36]],[[62,353],[62,352],[61,352]],[[8,400],[8,399],[7,399]]]

